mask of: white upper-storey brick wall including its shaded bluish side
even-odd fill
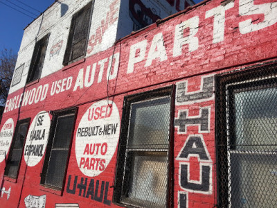
[[[176,1],[174,5],[170,5],[168,3],[169,0],[156,1],[92,1],[93,8],[87,40],[87,53],[84,58],[107,50],[113,46],[116,40],[134,31],[134,24],[138,24],[136,21],[138,18],[136,12],[139,12],[140,15],[141,11],[146,12],[143,18],[146,18],[146,21],[151,21],[148,16],[154,15],[153,19],[157,19],[157,17],[162,19],[178,11],[176,9]],[[180,1],[182,6],[179,6],[179,8],[184,9],[184,1]],[[15,92],[17,89],[21,89],[26,85],[35,44],[47,34],[50,35],[48,37],[46,55],[40,78],[44,78],[64,67],[64,53],[71,28],[71,19],[78,10],[86,6],[89,2],[91,0],[55,1],[52,6],[25,28],[15,67],[15,69],[18,69],[20,66],[23,66],[21,79],[16,85],[11,85],[9,93]],[[189,2],[192,4],[191,1]]]

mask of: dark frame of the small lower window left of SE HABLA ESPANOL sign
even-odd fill
[[[22,148],[21,148],[20,159],[19,159],[19,163],[18,163],[18,166],[17,166],[17,173],[16,173],[16,176],[14,177],[12,175],[7,174],[8,164],[9,164],[10,159],[12,157],[13,150],[15,149],[15,142],[16,142],[16,139],[17,139],[17,133],[19,132],[19,126],[21,124],[24,124],[24,123],[27,123],[27,131],[26,131],[26,135],[25,135],[25,138],[24,138],[24,144],[22,145]],[[21,119],[21,120],[17,121],[17,125],[15,127],[15,133],[12,136],[12,144],[10,145],[10,150],[9,150],[9,153],[8,153],[8,158],[7,158],[6,165],[5,165],[5,170],[4,170],[4,175],[6,177],[10,177],[10,178],[15,179],[15,180],[17,180],[17,178],[18,178],[19,171],[20,171],[20,166],[21,166],[21,161],[22,161],[22,156],[24,154],[24,146],[25,146],[25,143],[26,143],[26,138],[27,138],[27,135],[28,135],[29,127],[30,127],[30,118]]]

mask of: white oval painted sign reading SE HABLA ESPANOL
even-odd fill
[[[35,116],[26,137],[24,159],[28,166],[35,166],[42,159],[50,130],[50,116],[42,111]]]

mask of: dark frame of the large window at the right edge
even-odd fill
[[[267,67],[265,69],[265,67]],[[274,85],[267,84],[274,81]],[[270,157],[271,150],[238,149],[235,141],[235,101],[233,95],[238,92],[254,91],[277,87],[277,63],[268,62],[243,69],[229,71],[215,76],[215,148],[217,163],[217,205],[231,207],[231,157],[244,155],[242,161],[251,161],[251,157]],[[233,120],[232,120],[233,119]],[[226,159],[227,157],[227,159]],[[236,164],[233,169],[240,168]],[[234,185],[235,186],[235,185]]]

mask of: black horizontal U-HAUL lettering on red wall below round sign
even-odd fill
[[[67,180],[66,193],[78,194],[83,198],[90,198],[96,202],[101,202],[105,205],[111,205],[111,200],[107,199],[109,193],[109,182],[89,179],[87,177],[81,177],[78,180],[78,176],[69,175]],[[80,178],[80,177],[79,177]],[[77,183],[78,182],[78,183]]]

